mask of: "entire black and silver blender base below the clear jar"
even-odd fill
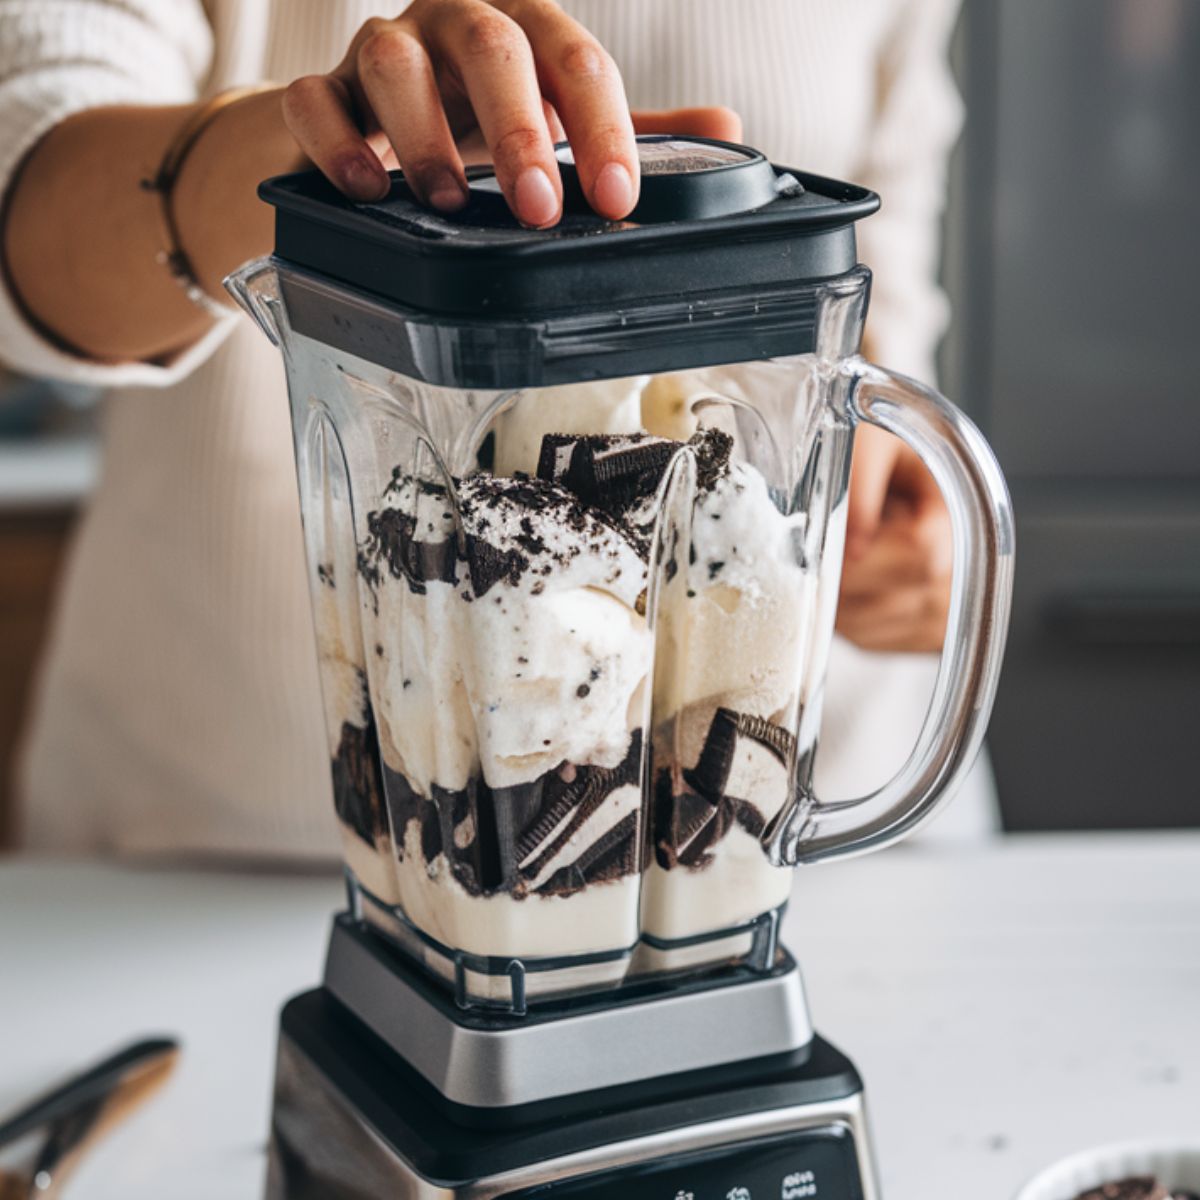
[[[731,1055],[731,1039],[758,1052]],[[326,985],[283,1010],[268,1200],[530,1189],[878,1200],[860,1080],[811,1034],[790,958],[767,977],[497,1018],[457,1010],[338,918]]]

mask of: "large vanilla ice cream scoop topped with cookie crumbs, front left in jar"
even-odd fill
[[[652,659],[636,536],[546,479],[402,479],[389,499],[364,551],[389,766],[422,796],[616,767]]]

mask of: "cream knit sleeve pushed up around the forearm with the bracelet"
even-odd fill
[[[0,0],[0,196],[25,155],[66,118],[106,104],[196,100],[212,60],[200,0]],[[0,280],[0,360],[28,374],[100,386],[164,386],[232,328],[217,320],[166,362],[98,364],[47,340]]]

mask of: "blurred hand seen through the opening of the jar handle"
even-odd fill
[[[932,475],[899,438],[860,427],[838,631],[868,650],[941,649],[950,568],[950,517]]]

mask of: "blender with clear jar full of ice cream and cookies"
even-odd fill
[[[858,356],[871,192],[638,139],[625,221],[522,228],[473,169],[265,182],[228,281],[283,354],[347,908],[281,1019],[268,1194],[846,1196],[862,1082],[780,943],[793,868],[950,796],[1013,524],[978,431]],[[944,493],[954,578],[904,767],[812,764],[862,422]],[[818,914],[817,914],[818,916]]]

